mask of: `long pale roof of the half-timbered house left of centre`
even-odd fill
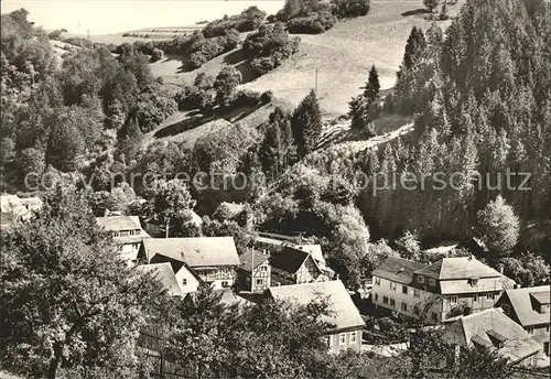
[[[151,238],[143,240],[145,258],[164,256],[191,268],[240,266],[234,237]]]

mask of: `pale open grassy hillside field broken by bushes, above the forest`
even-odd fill
[[[426,30],[431,25],[431,21],[417,12],[421,7],[421,1],[374,1],[366,17],[338,22],[321,35],[300,35],[300,52],[293,59],[245,87],[258,91],[271,89],[277,97],[298,104],[315,86],[317,68],[317,89],[324,113],[345,113],[350,97],[361,91],[359,87],[372,64],[379,69],[382,88],[393,86],[411,28],[417,25]],[[449,6],[450,14],[460,7],[460,3]],[[439,21],[443,29],[450,23]],[[239,51],[226,53],[188,73],[181,72],[181,62],[175,57],[156,62],[151,68],[168,83],[183,84],[193,80],[199,72],[216,75],[224,64],[242,67],[239,55]]]

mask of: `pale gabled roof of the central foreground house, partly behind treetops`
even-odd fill
[[[274,300],[295,302],[299,305],[306,305],[316,299],[327,299],[332,314],[324,316],[323,321],[335,325],[335,329],[365,325],[348,291],[339,280],[272,286],[268,289],[268,293]]]

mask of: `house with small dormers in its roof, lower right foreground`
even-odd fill
[[[487,348],[519,366],[533,366],[541,349],[520,325],[496,307],[456,320],[446,326],[442,338],[455,348],[455,356],[464,348]]]

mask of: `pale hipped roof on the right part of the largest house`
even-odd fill
[[[437,262],[415,271],[415,273],[439,280],[493,278],[501,275],[473,256],[443,258]]]

